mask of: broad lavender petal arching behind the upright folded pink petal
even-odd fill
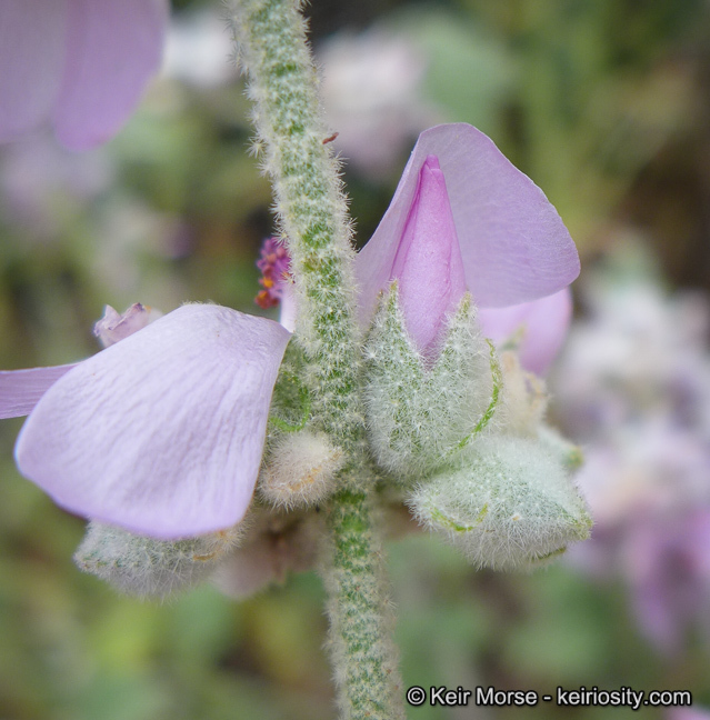
[[[437,126],[419,136],[389,209],[358,254],[363,324],[387,287],[419,171],[429,154],[439,158],[447,181],[466,282],[478,307],[528,302],[574,280],[577,249],[540,188],[476,128]]]

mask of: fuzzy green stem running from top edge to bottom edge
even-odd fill
[[[240,58],[249,71],[258,142],[266,151],[281,229],[291,253],[306,351],[311,421],[348,453],[341,490],[327,512],[331,560],[324,569],[330,649],[347,720],[404,717],[380,534],[373,526],[374,473],[358,387],[353,252],[338,164],[324,142],[317,73],[294,0],[236,0]]]

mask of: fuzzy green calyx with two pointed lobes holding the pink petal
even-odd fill
[[[450,462],[490,423],[502,373],[467,294],[433,361],[411,341],[393,282],[364,343],[364,401],[377,462],[403,482]]]

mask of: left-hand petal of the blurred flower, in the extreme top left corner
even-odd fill
[[[0,2],[0,142],[49,116],[61,87],[68,0]]]

